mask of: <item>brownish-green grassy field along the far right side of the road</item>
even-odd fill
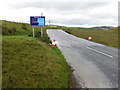
[[[77,37],[88,39],[92,37],[92,41],[98,42],[107,46],[120,49],[120,43],[118,43],[118,28],[110,30],[98,30],[98,29],[80,29],[80,28],[62,28],[64,31],[73,34]]]

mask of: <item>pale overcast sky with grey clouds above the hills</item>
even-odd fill
[[[0,20],[30,22],[41,13],[51,24],[117,26],[118,0],[2,0]]]

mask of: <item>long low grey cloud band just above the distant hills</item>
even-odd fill
[[[60,24],[65,24],[65,25],[108,25],[108,24],[113,24],[116,25],[116,21],[114,20],[113,22],[107,23],[107,20],[109,19],[103,19],[103,18],[73,18],[73,19],[57,19],[53,20],[52,23],[60,23]],[[104,23],[103,23],[104,22]]]

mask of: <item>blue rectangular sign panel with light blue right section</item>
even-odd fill
[[[31,16],[30,25],[32,27],[44,27],[45,26],[45,16]]]

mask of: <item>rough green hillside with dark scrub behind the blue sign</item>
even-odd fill
[[[10,21],[2,21],[3,35],[26,35],[32,32],[32,28],[26,23],[16,23]]]

